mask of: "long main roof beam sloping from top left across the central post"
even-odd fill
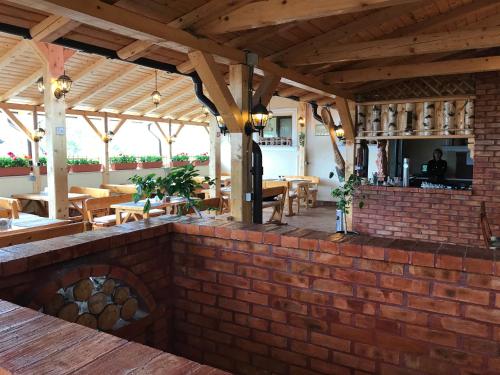
[[[294,2],[296,1],[294,0]],[[325,0],[317,1],[325,2]],[[342,0],[342,2],[345,1],[347,0]],[[363,3],[367,1],[369,3],[378,2],[387,5],[396,2],[407,2],[407,0],[365,0]],[[336,3],[330,0],[326,0],[326,2],[329,4]],[[349,3],[352,3],[352,0]],[[246,53],[244,51],[220,44],[211,39],[199,38],[184,30],[176,29],[115,5],[108,5],[100,0],[17,0],[16,4],[68,17],[83,24],[92,25],[93,27],[133,39],[150,40],[156,44],[164,45],[167,48],[183,53],[191,50],[199,50],[214,54],[222,58],[222,61],[225,63],[245,63],[246,61]],[[303,6],[303,2],[301,8],[305,8],[307,11],[310,10]],[[267,11],[264,13],[267,13]],[[311,91],[319,92],[325,96],[334,97],[336,94],[351,96],[338,87],[324,84],[316,77],[303,75],[292,69],[283,68],[266,59],[259,59],[257,66],[265,72],[284,77],[283,79],[288,79],[290,82],[310,88]]]

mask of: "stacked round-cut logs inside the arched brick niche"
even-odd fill
[[[90,277],[61,288],[43,305],[43,312],[68,322],[111,331],[135,320],[139,302],[123,283]]]

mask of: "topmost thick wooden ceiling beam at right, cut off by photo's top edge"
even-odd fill
[[[409,3],[412,0],[314,0],[308,6],[303,0],[256,1],[234,11],[226,12],[203,27],[204,34],[224,34],[259,27],[305,21],[346,13],[361,12]]]

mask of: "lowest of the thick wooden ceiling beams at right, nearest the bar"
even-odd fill
[[[421,64],[392,65],[377,68],[339,70],[325,74],[325,80],[335,83],[407,79],[440,75],[491,72],[500,70],[500,56],[446,60]]]

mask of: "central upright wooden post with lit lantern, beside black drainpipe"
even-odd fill
[[[241,110],[240,132],[231,131],[231,215],[236,221],[252,222],[252,205],[247,193],[252,191],[250,167],[252,160],[252,137],[243,127],[248,118],[248,66],[229,66],[229,87],[236,105]],[[235,119],[236,120],[236,119]]]

